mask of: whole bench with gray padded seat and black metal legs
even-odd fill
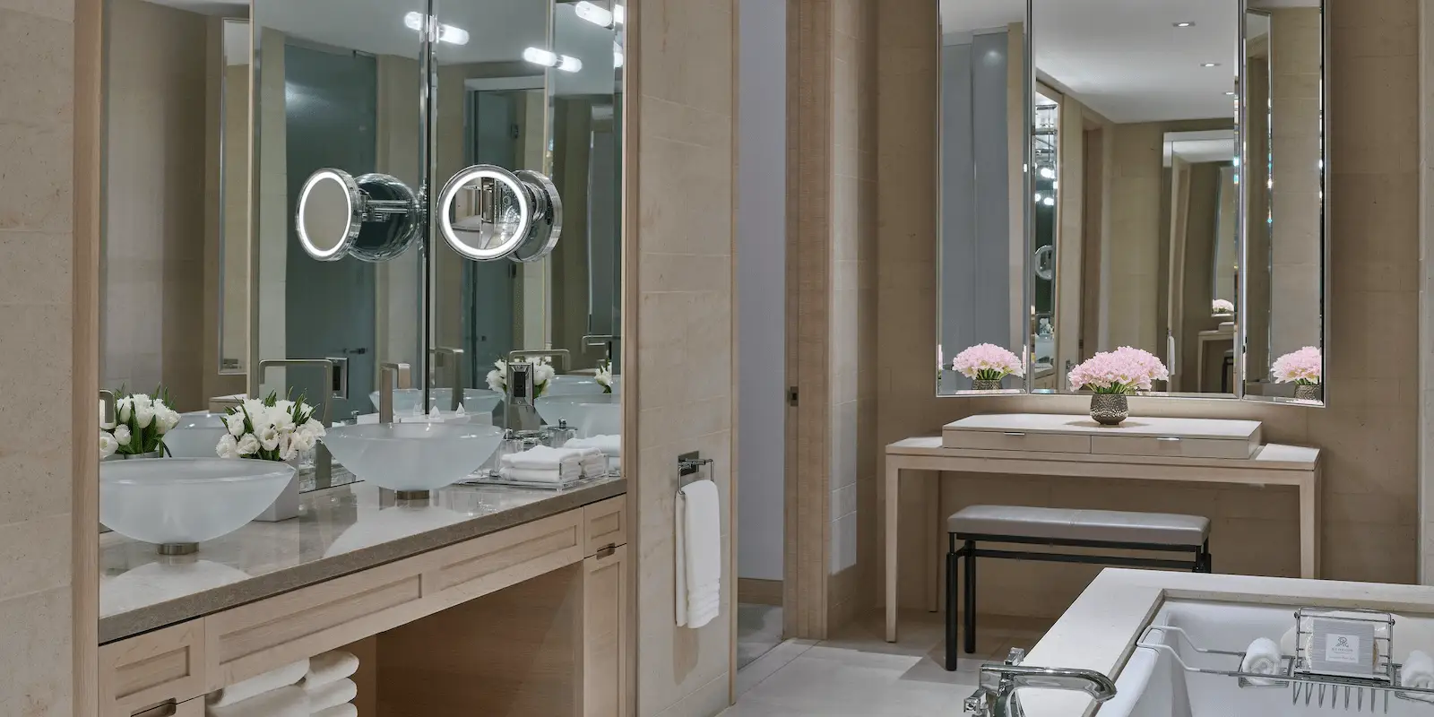
[[[1210,572],[1210,519],[1199,515],[1133,513],[1126,511],[1076,511],[974,505],[946,519],[951,548],[946,552],[946,670],[956,668],[956,574],[962,574],[961,614],[965,651],[977,650],[977,558],[1014,561],[1088,562],[1143,568]],[[956,543],[961,543],[958,548]],[[991,549],[978,543],[1097,548],[1108,551],[1190,552],[1192,559],[1143,555],[1098,555],[1028,549]]]

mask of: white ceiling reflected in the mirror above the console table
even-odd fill
[[[942,32],[1021,22],[1024,6],[1024,0],[941,0]],[[1032,0],[1032,14],[1040,76],[1107,119],[1233,115],[1226,92],[1235,89],[1235,0]],[[1177,29],[1177,22],[1196,24]],[[1200,66],[1209,62],[1219,66]]]

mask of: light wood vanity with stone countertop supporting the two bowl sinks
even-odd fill
[[[304,503],[182,559],[105,536],[100,717],[199,717],[208,693],[330,650],[360,657],[366,716],[631,713],[622,479]]]

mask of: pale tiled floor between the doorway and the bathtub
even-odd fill
[[[1030,650],[1048,625],[988,619],[977,655],[955,673],[941,667],[941,615],[902,614],[901,641],[882,640],[873,612],[830,640],[789,640],[737,673],[737,704],[724,717],[962,714],[981,663],[1004,660],[1010,648]]]

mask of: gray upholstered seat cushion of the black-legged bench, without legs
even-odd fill
[[[961,535],[1203,545],[1210,536],[1210,519],[1199,515],[974,505],[954,513],[946,521],[946,531]]]

